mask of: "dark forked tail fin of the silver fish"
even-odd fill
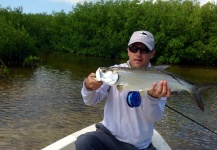
[[[196,86],[196,89],[194,90],[194,92],[191,92],[191,95],[194,97],[198,107],[204,111],[204,104],[202,102],[202,99],[201,99],[201,96],[200,96],[200,93],[203,91],[203,90],[206,90],[208,88],[212,88],[212,87],[217,87],[217,84],[216,83],[210,83],[210,84],[199,84]]]

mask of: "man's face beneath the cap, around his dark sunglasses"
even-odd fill
[[[143,43],[133,43],[132,45],[138,48],[146,47]],[[151,51],[150,53],[143,54],[141,53],[141,50],[138,50],[136,53],[133,53],[128,48],[130,65],[133,68],[147,67],[150,62],[150,59],[153,58],[154,54],[155,50]]]

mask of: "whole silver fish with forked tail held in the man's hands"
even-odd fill
[[[111,86],[117,86],[119,92],[146,91],[154,82],[159,83],[166,80],[171,91],[188,91],[193,97],[198,107],[204,111],[200,92],[204,89],[217,86],[217,84],[197,85],[187,79],[156,68],[126,68],[126,67],[99,67],[96,71],[97,81],[103,81]]]

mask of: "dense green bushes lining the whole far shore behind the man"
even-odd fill
[[[155,36],[154,61],[217,64],[217,5],[197,1],[101,0],[78,3],[68,14],[22,14],[0,7],[0,58],[30,63],[37,52],[128,58],[136,30]]]

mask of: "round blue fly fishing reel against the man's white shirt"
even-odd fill
[[[129,107],[139,107],[141,104],[141,96],[138,91],[131,91],[127,95],[127,104]]]

